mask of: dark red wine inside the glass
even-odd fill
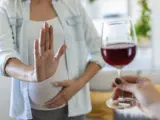
[[[134,43],[109,44],[105,48],[101,48],[101,54],[109,65],[123,67],[134,59],[136,45]]]

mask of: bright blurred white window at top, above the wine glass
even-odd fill
[[[127,15],[128,0],[95,0],[90,3],[85,0],[84,5],[90,16],[96,18],[113,18]]]

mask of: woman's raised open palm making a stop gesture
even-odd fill
[[[39,41],[36,40],[34,45],[33,79],[35,82],[44,81],[54,75],[65,50],[64,44],[54,54],[53,27],[45,23],[41,29]]]

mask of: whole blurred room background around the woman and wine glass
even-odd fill
[[[159,0],[83,0],[83,5],[100,34],[100,21],[130,17],[138,38],[138,54],[123,69],[123,75],[136,75],[142,70],[144,76],[160,84],[160,1]],[[117,77],[116,69],[106,65],[90,82],[93,110],[88,120],[146,120],[137,109],[114,111],[105,105],[110,97],[111,84]],[[9,113],[11,81],[0,77],[0,120],[11,120]],[[124,114],[125,113],[125,114]]]

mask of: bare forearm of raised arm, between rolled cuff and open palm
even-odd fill
[[[33,68],[31,66],[25,65],[16,58],[9,59],[5,66],[5,73],[8,76],[26,82],[31,82],[32,71]]]

